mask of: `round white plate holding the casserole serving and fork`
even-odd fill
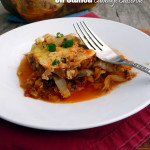
[[[75,33],[73,23],[86,23],[112,48],[128,59],[150,62],[150,38],[113,21],[93,18],[63,18],[25,25],[0,36],[0,116],[10,122],[37,129],[76,130],[106,125],[126,118],[150,104],[150,76],[138,76],[106,96],[73,104],[54,104],[24,97],[16,75],[34,39],[46,33]]]

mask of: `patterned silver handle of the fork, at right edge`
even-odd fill
[[[135,68],[137,68],[137,69],[139,69],[139,70],[141,70],[141,71],[143,71],[143,72],[150,75],[150,69],[149,68],[147,68],[145,66],[142,66],[138,63],[133,63],[133,62],[126,62],[126,63],[127,63],[127,65],[135,67]]]

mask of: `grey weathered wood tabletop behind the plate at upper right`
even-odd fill
[[[143,3],[121,4],[116,3],[97,4],[92,8],[98,16],[103,19],[118,21],[135,28],[150,29],[150,0],[143,0]]]

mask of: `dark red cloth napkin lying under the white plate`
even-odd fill
[[[150,105],[121,121],[78,131],[36,130],[0,119],[0,150],[134,150],[149,137]]]

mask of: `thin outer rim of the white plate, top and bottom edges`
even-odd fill
[[[32,24],[38,24],[38,23],[40,23],[40,22],[48,22],[48,21],[53,21],[53,20],[70,20],[70,19],[81,19],[81,18],[79,18],[79,17],[69,17],[69,18],[54,18],[54,19],[48,19],[48,20],[42,20],[42,21],[38,21],[38,22],[34,22],[34,23],[30,23],[30,24],[26,24],[26,25],[23,25],[23,26],[21,26],[21,27],[17,27],[17,28],[15,28],[15,29],[12,29],[12,30],[10,30],[10,31],[8,31],[8,32],[5,32],[5,33],[3,33],[2,35],[0,35],[0,40],[1,40],[1,38],[3,38],[3,36],[7,36],[7,34],[9,34],[9,32],[12,32],[12,31],[15,31],[15,30],[18,30],[18,29],[21,29],[21,28],[26,28],[27,26],[32,26]],[[87,20],[99,20],[99,19],[101,19],[101,18],[87,18],[87,17],[83,17],[84,19],[87,19]],[[126,24],[123,24],[123,23],[120,23],[120,22],[117,22],[117,21],[112,21],[112,20],[107,20],[107,19],[102,19],[102,20],[104,20],[104,21],[110,21],[110,22],[115,22],[115,23],[118,23],[118,24],[121,24],[121,25],[125,25],[125,26],[128,26],[128,27],[130,27],[130,28],[132,28],[132,29],[134,29],[134,30],[136,30],[136,31],[138,31],[138,32],[140,32],[140,34],[143,34],[144,36],[147,36],[148,38],[150,38],[147,34],[145,34],[145,33],[143,33],[142,31],[140,31],[140,30],[138,30],[138,29],[136,29],[136,28],[134,28],[134,27],[131,27],[131,26],[129,26],[129,25],[126,25]],[[80,127],[72,127],[72,128],[52,128],[52,127],[50,127],[50,128],[46,128],[46,127],[37,127],[37,126],[35,126],[35,125],[31,125],[31,124],[25,124],[25,123],[21,123],[21,122],[18,122],[18,121],[15,121],[15,120],[13,120],[13,119],[11,119],[11,118],[9,118],[9,117],[5,117],[5,116],[3,116],[3,115],[1,115],[0,114],[0,118],[2,118],[2,119],[4,119],[4,120],[7,120],[7,121],[9,121],[9,122],[11,122],[11,123],[14,123],[14,124],[17,124],[17,125],[21,125],[21,126],[25,126],[25,127],[29,127],[29,128],[34,128],[34,129],[41,129],[41,130],[54,130],[54,131],[70,131],[70,130],[81,130],[81,129],[89,129],[89,128],[94,128],[94,127],[98,127],[98,126],[103,126],[103,125],[107,125],[107,124],[110,124],[110,123],[114,123],[114,122],[117,122],[117,121],[120,121],[120,120],[122,120],[122,119],[125,119],[125,118],[127,118],[127,117],[129,117],[129,116],[132,116],[133,114],[135,114],[135,113],[137,113],[137,112],[139,112],[139,111],[141,111],[142,109],[144,109],[146,106],[148,106],[150,104],[150,99],[149,99],[149,101],[147,101],[146,103],[144,103],[143,105],[141,105],[140,107],[138,107],[138,108],[136,108],[136,109],[134,109],[134,111],[131,111],[131,112],[128,112],[128,113],[126,113],[126,114],[124,114],[124,115],[122,115],[122,116],[120,116],[120,117],[116,117],[115,119],[111,119],[111,120],[109,120],[109,121],[105,121],[105,122],[103,122],[101,125],[99,125],[100,123],[96,123],[96,124],[92,124],[92,125],[90,125],[90,124],[88,124],[87,126],[83,126],[83,127],[81,127],[81,125],[80,125]]]

